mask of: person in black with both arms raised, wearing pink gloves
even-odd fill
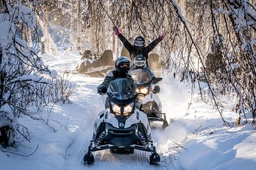
[[[161,42],[161,40],[164,40],[164,37],[166,33],[162,33],[159,38],[156,38],[156,40],[149,43],[149,45],[145,46],[145,39],[142,36],[138,36],[134,39],[134,45],[132,45],[127,38],[122,35],[122,33],[119,32],[119,29],[117,26],[114,26],[114,33],[117,35],[117,37],[123,42],[124,47],[129,51],[130,58],[132,60],[132,64],[134,63],[134,58],[137,57],[137,55],[143,55],[146,58],[146,66],[149,66],[148,64],[148,57],[149,52],[156,47],[156,45]]]

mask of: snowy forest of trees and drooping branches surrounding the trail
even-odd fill
[[[147,43],[166,30],[166,39],[156,48],[160,69],[191,82],[192,89],[198,80],[206,82],[201,99],[213,101],[221,118],[229,98],[236,103],[237,125],[255,126],[255,1],[1,0],[0,18],[0,129],[5,146],[31,139],[26,126],[18,123],[21,115],[34,118],[29,107],[65,103],[72,92],[66,75],[57,77],[38,54],[91,50],[100,56],[112,50],[117,57],[122,45],[113,26],[127,38],[144,35]],[[223,123],[230,126],[225,118]]]

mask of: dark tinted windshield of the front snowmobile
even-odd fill
[[[137,84],[132,79],[114,79],[107,89],[110,101],[125,105],[137,97]]]

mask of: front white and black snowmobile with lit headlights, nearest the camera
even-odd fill
[[[95,120],[93,136],[84,157],[92,164],[92,152],[110,149],[112,153],[132,154],[134,149],[151,152],[150,164],[160,162],[151,140],[151,128],[146,114],[135,107],[137,85],[131,79],[114,79],[107,89],[110,107]]]

